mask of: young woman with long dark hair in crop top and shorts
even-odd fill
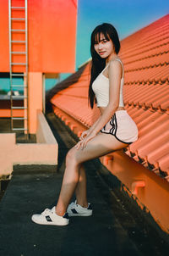
[[[101,116],[79,142],[68,151],[63,184],[52,209],[34,214],[32,220],[41,225],[68,225],[69,216],[89,216],[92,208],[87,201],[86,175],[83,163],[127,147],[138,138],[138,129],[123,104],[123,63],[117,54],[120,42],[111,24],[98,25],[91,34],[92,56],[89,88],[90,106],[94,103]],[[76,200],[70,202],[73,194]]]

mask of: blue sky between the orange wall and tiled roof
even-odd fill
[[[90,58],[90,34],[112,23],[123,39],[169,14],[169,0],[78,0],[76,69]]]

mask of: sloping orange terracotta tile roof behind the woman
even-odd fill
[[[125,108],[139,127],[125,153],[169,181],[169,14],[121,43]],[[99,116],[88,107],[89,81],[90,62],[49,92],[54,106],[86,126]]]

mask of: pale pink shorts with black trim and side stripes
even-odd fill
[[[102,133],[112,134],[118,141],[131,144],[138,139],[138,128],[127,110],[118,110],[112,119],[101,129]]]

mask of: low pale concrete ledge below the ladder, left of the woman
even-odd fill
[[[40,110],[36,138],[37,143],[16,143],[15,133],[0,134],[0,176],[10,175],[14,164],[49,164],[57,170],[58,144]]]

